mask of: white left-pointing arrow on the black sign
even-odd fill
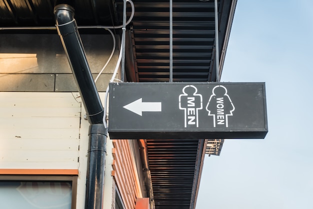
[[[123,108],[142,116],[142,112],[161,112],[161,102],[142,102],[142,98],[123,106]]]

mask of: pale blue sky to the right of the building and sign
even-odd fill
[[[196,209],[313,208],[313,1],[238,0],[221,81],[265,82],[265,139],[205,156]]]

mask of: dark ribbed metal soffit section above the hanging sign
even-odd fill
[[[120,5],[121,2],[116,1]],[[131,23],[127,55],[133,63],[134,82],[169,81],[169,1],[134,0],[135,14]],[[223,60],[235,0],[218,1],[219,55]],[[121,8],[121,7],[118,7]],[[174,0],[173,16],[173,81],[215,81],[214,1]],[[128,15],[130,10],[128,9]],[[121,12],[119,12],[119,19]],[[230,22],[231,25],[231,22]],[[227,34],[228,33],[228,34]],[[126,58],[127,59],[127,58]]]

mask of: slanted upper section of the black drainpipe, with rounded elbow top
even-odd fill
[[[70,68],[73,72],[82,103],[90,124],[102,123],[103,107],[96,90],[86,55],[74,20],[74,9],[69,5],[54,8],[56,30],[61,38]]]

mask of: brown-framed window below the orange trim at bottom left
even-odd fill
[[[76,176],[0,175],[0,208],[73,209],[76,181]]]

